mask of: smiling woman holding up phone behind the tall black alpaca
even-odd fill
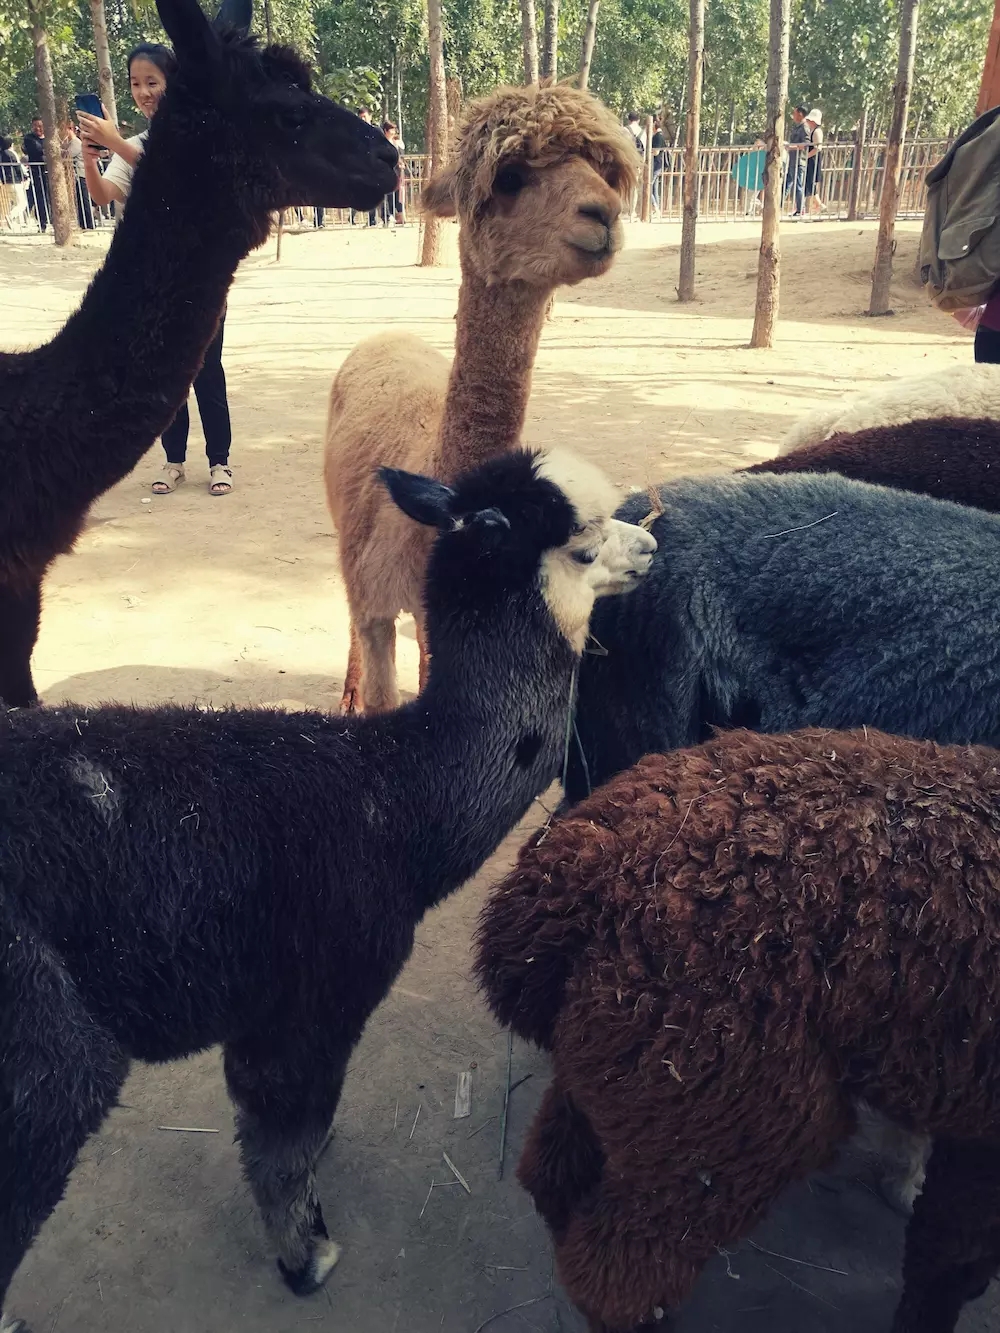
[[[147,120],[152,120],[160,99],[167,92],[167,83],[177,68],[173,52],[159,43],[144,41],[128,57],[128,84],[132,100]],[[123,139],[107,112],[104,116],[91,116],[77,112],[80,137],[84,151],[84,175],[87,188],[95,204],[124,204],[132,185],[132,173],[143,156],[145,133]],[[104,175],[97,168],[103,149],[113,153]],[[229,424],[229,404],[225,397],[225,371],[223,369],[223,332],[225,312],[219,321],[219,331],[205,351],[205,360],[195,379],[195,397],[201,413],[201,428],[205,432],[205,453],[208,455],[208,492],[225,496],[232,491],[232,469],[229,468],[229,445],[232,428]],[[188,427],[191,417],[187,403],[163,432],[163,448],[167,461],[160,476],[153,481],[153,495],[165,496],[176,491],[184,480],[184,461],[188,452]]]

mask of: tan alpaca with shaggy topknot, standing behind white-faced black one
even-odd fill
[[[639,159],[589,93],[501,88],[465,109],[427,212],[461,224],[455,360],[411,333],[361,343],[329,396],[324,475],[351,608],[343,708],[399,702],[396,617],[412,612],[427,676],[427,529],[388,503],[376,468],[445,481],[519,444],[552,292],[605,273]],[[364,690],[361,692],[361,682]]]

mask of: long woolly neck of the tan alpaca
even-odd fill
[[[520,443],[551,295],[528,283],[488,284],[463,241],[455,361],[439,436],[439,475],[447,480]]]

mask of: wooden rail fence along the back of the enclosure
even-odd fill
[[[927,173],[948,151],[948,140],[917,140],[907,144],[903,159],[903,183],[900,189],[900,217],[919,217],[924,211],[927,197]],[[753,149],[747,147],[703,148],[700,152],[700,192],[699,212],[704,221],[736,221],[753,216],[760,211],[761,193],[753,189],[756,184],[756,161],[748,161]],[[823,204],[824,217],[847,217],[851,201],[851,183],[855,173],[853,144],[829,144],[823,151],[821,181],[817,197]],[[684,191],[684,171],[681,151],[667,149],[649,183],[653,221],[679,221]],[[403,204],[404,215],[415,209],[427,172],[427,157],[423,153],[408,153],[403,159]],[[881,201],[881,187],[885,171],[885,144],[867,144],[861,151],[859,167],[859,217],[875,217]],[[41,221],[48,221],[48,183],[44,168],[24,168],[23,184],[0,181],[0,237],[29,235],[40,231]],[[76,221],[80,228],[108,231],[115,225],[115,208],[97,208],[87,195],[81,179],[69,176],[76,199]],[[792,173],[785,171],[785,211],[792,212],[795,183]],[[632,216],[643,212],[641,199],[632,200]],[[392,221],[391,207],[380,205],[368,219],[349,209],[287,209],[284,224],[289,229],[313,228],[319,225],[349,225],[352,221],[364,225],[365,221]]]

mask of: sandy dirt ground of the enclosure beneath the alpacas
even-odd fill
[[[612,275],[556,305],[527,440],[572,445],[623,487],[645,484],[767,457],[817,401],[968,361],[968,335],[909,280],[916,232],[900,228],[896,316],[869,321],[873,227],[787,227],[777,345],[752,352],[757,227],[701,228],[699,300],[688,307],[675,300],[677,229],[631,227]],[[377,329],[405,325],[451,348],[457,272],[415,268],[416,240],[415,228],[307,232],[285,237],[280,264],[272,240],[243,265],[225,347],[236,488],[209,497],[196,427],[176,495],[149,495],[157,449],[100,501],[47,585],[35,659],[47,702],[335,704],[347,621],[320,480],[325,396],[344,355]],[[41,239],[0,243],[0,343],[49,337],[101,255],[100,240],[65,256]],[[413,688],[412,629],[401,656]],[[33,1333],[580,1333],[513,1178],[545,1064],[515,1041],[499,1178],[507,1037],[468,976],[477,906],[523,834],[427,918],[355,1054],[320,1173],[344,1246],[323,1293],[297,1301],[277,1280],[211,1052],[133,1073],[24,1262],[9,1312]],[[456,1120],[465,1069],[472,1114]],[[676,1330],[887,1329],[901,1236],[863,1164],[841,1162],[713,1261]],[[961,1324],[963,1333],[997,1328],[993,1293]]]

